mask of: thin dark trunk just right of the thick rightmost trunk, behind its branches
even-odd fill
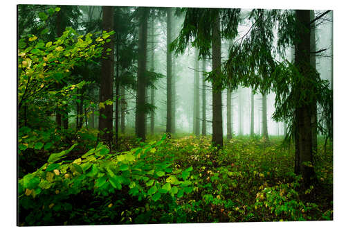
[[[310,10],[310,21],[315,19],[315,12]],[[310,24],[310,65],[316,69],[316,35],[315,22]],[[312,153],[317,152],[317,103],[313,101],[311,105],[311,134],[312,134]]]

